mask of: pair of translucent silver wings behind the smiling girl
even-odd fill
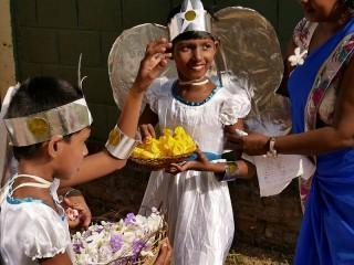
[[[214,78],[218,75],[222,85],[233,94],[243,93],[239,87],[244,87],[252,102],[252,110],[246,119],[249,129],[269,135],[288,132],[291,127],[289,103],[274,94],[283,74],[274,29],[261,14],[247,8],[225,8],[215,17],[212,32],[221,44],[209,75]],[[166,26],[142,24],[125,30],[113,44],[108,73],[113,96],[121,109],[146,45],[160,36],[168,38]],[[160,76],[176,76],[173,62]]]

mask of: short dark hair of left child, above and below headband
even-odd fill
[[[46,76],[28,78],[12,97],[4,118],[24,117],[69,104],[82,97],[81,89],[66,81]],[[13,155],[18,160],[31,158],[41,147],[41,142],[25,147],[13,147]]]

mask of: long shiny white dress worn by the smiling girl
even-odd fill
[[[204,104],[192,106],[173,93],[175,80],[155,82],[148,104],[158,115],[160,129],[183,126],[204,152],[220,157],[223,127],[250,110],[248,97],[218,87]],[[167,211],[174,264],[223,264],[233,239],[233,214],[228,184],[212,172],[186,171],[171,176],[154,171],[143,199],[140,214],[153,206]]]

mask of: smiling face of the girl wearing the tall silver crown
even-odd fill
[[[208,39],[191,39],[175,44],[174,60],[183,81],[202,78],[210,68],[218,50],[218,42]]]

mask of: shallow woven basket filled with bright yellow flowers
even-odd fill
[[[178,126],[174,131],[164,129],[159,138],[148,138],[135,147],[129,160],[148,170],[160,170],[187,160],[196,148],[192,138]]]

